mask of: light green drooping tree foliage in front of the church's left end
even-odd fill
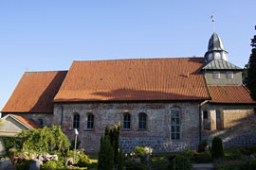
[[[22,130],[16,135],[18,149],[33,152],[63,151],[70,143],[59,126]]]

